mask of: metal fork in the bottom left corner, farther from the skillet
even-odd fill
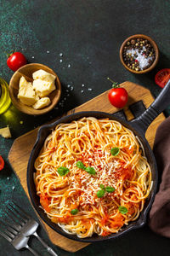
[[[0,220],[0,223],[4,226],[7,226],[7,224],[3,223],[2,220]],[[34,254],[35,256],[39,256],[31,247],[28,246],[28,240],[30,237],[21,235],[11,226],[8,226],[3,232],[0,231],[0,235],[3,236],[7,241],[9,241],[15,249],[20,250],[21,248],[26,247],[29,251],[31,251],[32,254]]]

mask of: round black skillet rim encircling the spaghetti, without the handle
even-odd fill
[[[122,230],[118,231],[117,233],[111,234],[110,236],[98,236],[98,235],[93,235],[91,237],[87,237],[87,238],[79,238],[76,235],[70,235],[67,234],[64,230],[62,230],[57,224],[54,224],[48,217],[47,215],[42,212],[42,209],[39,207],[39,205],[37,205],[36,203],[36,199],[33,196],[32,193],[32,188],[31,188],[31,179],[33,179],[33,172],[34,170],[31,170],[32,168],[32,161],[34,162],[34,158],[37,158],[37,155],[39,154],[40,149],[42,148],[42,145],[44,143],[44,138],[42,139],[42,136],[44,136],[44,132],[50,133],[49,131],[51,131],[52,129],[54,129],[54,127],[56,125],[59,125],[59,123],[65,123],[65,122],[71,122],[74,119],[81,119],[82,117],[90,117],[90,116],[94,116],[95,118],[99,119],[99,117],[96,117],[96,115],[103,115],[103,118],[111,118],[111,119],[115,119],[117,121],[119,121],[122,125],[125,125],[128,129],[130,129],[131,131],[134,132],[134,134],[136,133],[137,135],[139,135],[140,137],[142,137],[143,141],[144,141],[144,148],[148,148],[149,152],[150,152],[150,156],[151,159],[153,160],[153,166],[154,166],[154,174],[155,174],[155,180],[154,180],[154,184],[153,187],[150,191],[150,199],[148,201],[147,206],[143,209],[142,212],[140,212],[139,214],[139,218],[137,219],[137,221],[134,221],[130,224],[127,225],[127,227],[125,228],[124,226],[122,227]],[[102,118],[102,117],[100,117]],[[71,120],[69,120],[71,119]],[[68,121],[67,121],[68,120]],[[130,127],[129,127],[130,126]],[[48,135],[45,135],[45,138]],[[41,143],[41,139],[42,139],[42,143]],[[37,148],[39,148],[39,150],[37,150]],[[36,150],[38,151],[36,154]],[[34,169],[34,168],[33,168]],[[153,172],[151,170],[151,172]],[[32,174],[31,174],[32,173]],[[31,177],[32,175],[32,177]],[[149,143],[147,142],[146,138],[144,137],[143,134],[141,134],[138,130],[135,130],[133,128],[133,125],[131,125],[130,123],[122,120],[122,119],[118,119],[116,117],[114,117],[111,113],[105,113],[105,112],[100,112],[100,111],[82,111],[82,112],[77,112],[77,113],[71,113],[70,115],[66,115],[64,117],[61,117],[60,119],[56,119],[53,123],[51,124],[47,124],[47,125],[42,125],[37,133],[37,140],[31,150],[31,154],[30,154],[30,158],[28,161],[28,166],[27,166],[27,173],[26,173],[26,179],[27,179],[27,188],[28,188],[28,193],[29,196],[31,198],[31,203],[35,209],[35,211],[37,212],[37,214],[39,215],[39,217],[46,223],[48,224],[48,226],[50,228],[52,228],[55,232],[59,233],[59,235],[65,236],[71,240],[74,241],[82,241],[82,242],[97,242],[97,241],[107,241],[107,240],[111,240],[114,239],[116,237],[119,236],[123,236],[125,233],[127,233],[130,230],[134,230],[134,229],[138,229],[140,227],[142,227],[145,223],[146,223],[146,217],[148,212],[150,211],[150,207],[154,201],[155,195],[156,195],[156,188],[157,188],[157,179],[158,179],[158,173],[157,173],[157,167],[156,167],[156,159],[155,156],[150,148]],[[36,192],[35,186],[34,186],[34,192]],[[145,202],[146,203],[146,202]],[[145,205],[144,203],[144,205]]]

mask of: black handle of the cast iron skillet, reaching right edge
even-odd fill
[[[156,100],[142,113],[137,119],[130,122],[134,129],[140,131],[143,135],[151,122],[170,105],[170,79]]]

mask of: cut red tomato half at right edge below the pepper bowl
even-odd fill
[[[163,68],[155,76],[155,82],[163,88],[170,79],[170,68]]]

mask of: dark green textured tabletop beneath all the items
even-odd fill
[[[18,179],[8,166],[8,151],[16,137],[109,90],[111,84],[106,80],[108,76],[118,82],[129,80],[141,84],[155,96],[160,92],[161,89],[154,83],[154,76],[161,68],[169,67],[169,13],[170,2],[165,0],[0,1],[0,76],[9,82],[13,74],[6,65],[5,52],[22,51],[29,62],[43,63],[58,73],[62,83],[59,102],[63,104],[63,107],[58,106],[59,109],[41,117],[27,116],[13,106],[0,116],[0,127],[9,125],[13,135],[8,140],[0,138],[0,154],[5,160],[5,168],[0,173],[1,216],[5,203],[14,199],[36,218]],[[127,72],[119,60],[122,41],[136,33],[144,33],[155,39],[161,54],[156,68],[144,75]],[[63,53],[62,58],[59,53]],[[63,60],[61,63],[60,59]],[[71,67],[68,67],[69,64]],[[67,84],[74,87],[70,96],[67,96]],[[83,93],[82,84],[85,84]],[[88,88],[93,90],[89,91]],[[165,113],[169,115],[170,108]],[[20,121],[23,121],[22,125]],[[42,228],[38,232],[48,241]],[[38,248],[40,255],[48,255],[35,238],[31,239],[31,247]],[[93,244],[77,253],[67,253],[59,247],[54,249],[59,255],[65,256],[164,256],[170,253],[170,241],[157,236],[146,225],[122,238]],[[31,253],[15,251],[0,237],[0,255]]]

